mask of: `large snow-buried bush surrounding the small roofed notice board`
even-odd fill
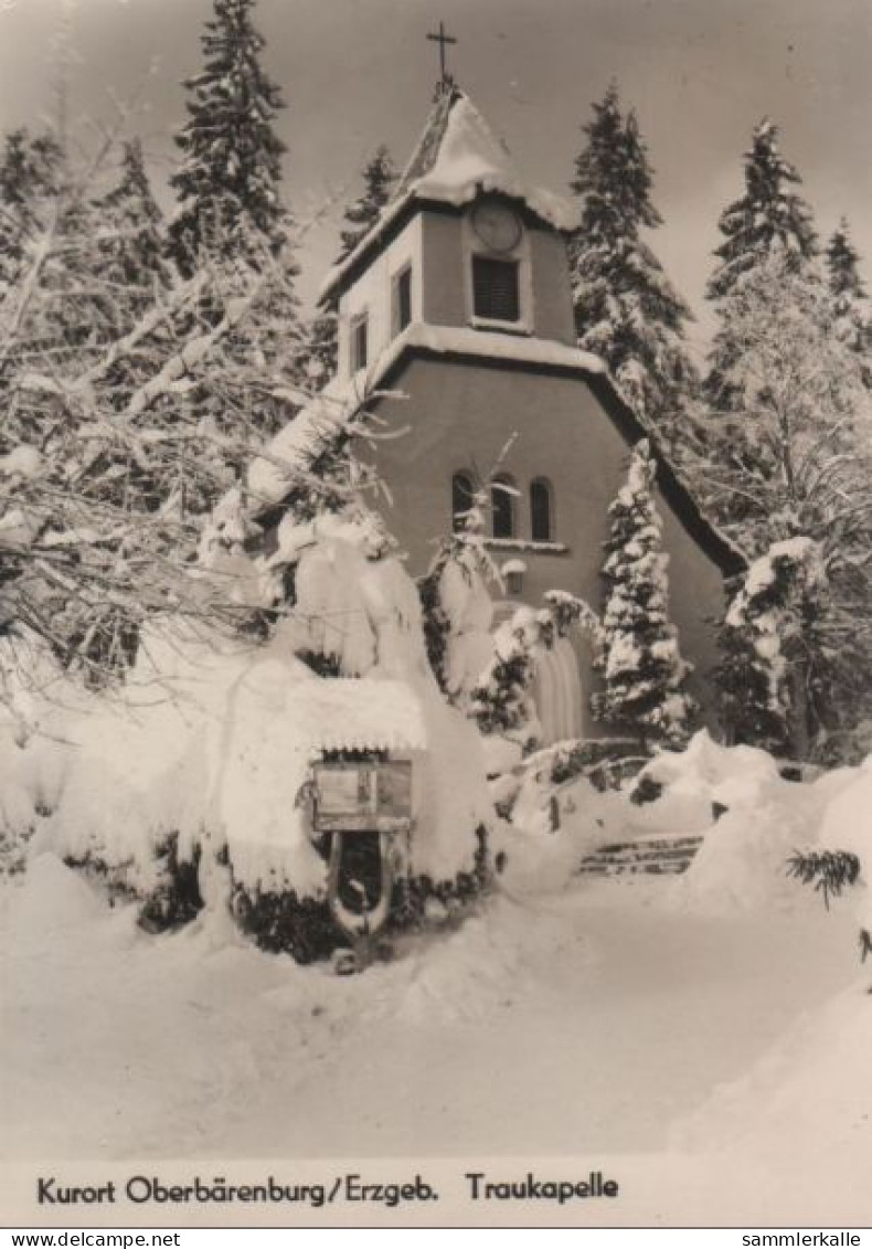
[[[71,766],[36,846],[131,891],[154,926],[190,918],[200,899],[232,907],[265,947],[311,957],[331,926],[310,768],[325,752],[390,749],[416,778],[410,879],[438,892],[477,878],[491,816],[477,734],[427,671],[412,582],[344,541],[307,550],[296,612],[265,644],[152,628],[124,701],[65,724]],[[354,627],[332,621],[327,636],[325,603]],[[360,677],[314,674],[296,653],[314,636]]]

